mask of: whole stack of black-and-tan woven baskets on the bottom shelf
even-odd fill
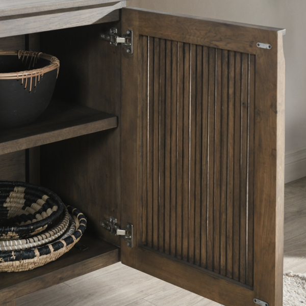
[[[31,270],[58,259],[85,229],[85,216],[53,191],[0,181],[0,272]]]

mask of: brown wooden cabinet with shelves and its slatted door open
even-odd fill
[[[0,152],[27,150],[25,179],[84,212],[89,248],[2,273],[2,302],[121,260],[226,306],[282,305],[285,31],[134,8],[111,16],[27,30],[60,74],[47,112],[2,131]],[[133,54],[100,38],[111,27],[133,31]],[[100,226],[110,215],[133,224],[132,248]]]

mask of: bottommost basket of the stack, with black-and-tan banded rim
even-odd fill
[[[68,252],[83,235],[87,221],[76,208],[67,206],[69,214],[75,221],[75,231],[69,228],[69,233],[53,243],[23,251],[0,252],[0,272],[18,272],[32,270],[58,259]],[[73,232],[73,233],[72,233]]]

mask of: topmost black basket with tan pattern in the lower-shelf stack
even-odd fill
[[[63,208],[61,199],[47,188],[1,181],[0,240],[37,235],[59,218]]]

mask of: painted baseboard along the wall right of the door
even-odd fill
[[[306,176],[306,147],[285,153],[285,183]]]

